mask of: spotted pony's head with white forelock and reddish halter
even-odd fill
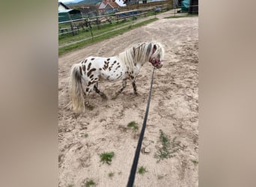
[[[153,65],[153,67],[161,68],[165,50],[160,43],[152,43],[151,46],[153,47],[152,50],[150,50],[152,55],[150,55],[149,62]]]

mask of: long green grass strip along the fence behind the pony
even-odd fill
[[[74,49],[81,49],[82,47],[84,47],[86,45],[89,45],[91,43],[97,43],[97,42],[100,42],[102,40],[106,40],[106,39],[112,38],[112,37],[114,37],[114,36],[116,36],[118,34],[124,34],[124,32],[126,32],[126,31],[130,31],[130,30],[132,30],[134,28],[141,27],[142,25],[147,25],[148,23],[155,22],[156,20],[157,20],[157,18],[148,19],[148,20],[146,20],[144,22],[139,22],[139,23],[137,23],[135,25],[132,25],[132,27],[129,27],[130,25],[127,25],[127,27],[121,28],[121,29],[119,29],[117,31],[112,31],[112,32],[103,34],[103,35],[101,35],[99,37],[94,37],[94,40],[91,40],[91,39],[84,40],[84,41],[81,41],[79,43],[71,44],[70,46],[60,47],[58,49],[58,55],[64,55],[67,52],[70,52],[70,51],[72,51]],[[102,29],[100,29],[100,30],[101,30],[101,32],[103,31]],[[109,31],[109,28],[107,29],[107,31]],[[90,35],[90,37],[91,37],[90,31],[88,32],[88,35]],[[96,35],[96,34],[94,33],[94,35]],[[72,38],[72,40],[70,39],[70,41],[76,41],[76,40],[80,39],[79,36],[78,37],[74,36],[74,37],[75,38]],[[85,35],[83,35],[82,37],[85,38]],[[60,43],[64,43],[64,40],[59,40],[59,44]]]

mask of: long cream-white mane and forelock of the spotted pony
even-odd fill
[[[154,52],[153,49],[155,49]],[[143,42],[129,46],[128,49],[118,55],[118,58],[121,58],[124,64],[129,67],[129,70],[133,70],[135,63],[141,63],[142,66],[146,61],[149,61],[150,57],[156,57],[157,55],[160,59],[163,59],[164,49],[160,43]]]

